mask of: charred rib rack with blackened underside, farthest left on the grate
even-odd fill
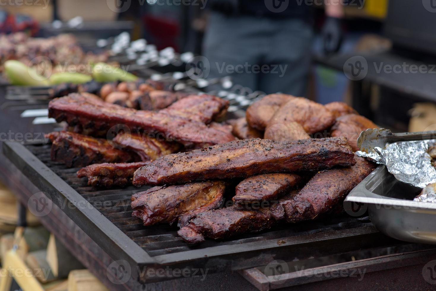
[[[52,132],[47,134],[51,142],[51,160],[64,163],[68,168],[85,167],[98,163],[123,163],[137,159],[112,147],[107,140],[88,137],[72,132]]]

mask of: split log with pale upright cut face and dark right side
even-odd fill
[[[53,234],[50,235],[47,246],[47,262],[55,277],[68,277],[71,270],[83,269],[80,263]]]

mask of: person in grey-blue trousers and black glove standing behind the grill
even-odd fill
[[[203,42],[209,77],[230,75],[239,84],[267,94],[306,96],[313,20],[305,0],[209,0],[211,9]],[[337,52],[342,41],[344,9],[325,0],[324,51]]]

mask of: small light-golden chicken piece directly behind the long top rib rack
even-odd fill
[[[290,121],[285,124],[273,124],[267,127],[264,138],[267,140],[294,141],[306,140],[310,138],[310,135],[304,131],[300,123]]]

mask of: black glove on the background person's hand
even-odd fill
[[[338,52],[342,45],[344,32],[340,18],[327,17],[322,29],[323,48],[326,55]]]

